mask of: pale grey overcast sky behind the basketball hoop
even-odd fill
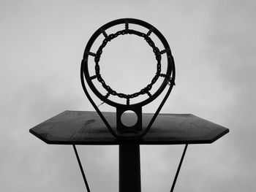
[[[84,190],[72,146],[46,145],[29,128],[64,110],[94,110],[80,61],[91,34],[117,18],[146,20],[169,42],[176,87],[162,112],[230,128],[211,145],[188,147],[175,191],[256,191],[255,8],[255,1],[0,1],[0,191]],[[115,45],[109,51],[116,53],[109,62],[127,56]],[[146,54],[135,54],[138,62],[151,62]],[[139,70],[135,82],[148,77]],[[142,191],[170,191],[182,149],[141,146]],[[118,147],[78,150],[91,191],[118,191]]]

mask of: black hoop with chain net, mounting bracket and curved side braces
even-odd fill
[[[137,24],[139,26],[143,26],[145,28],[148,28],[148,33],[143,34],[139,31],[135,31],[132,29],[129,29],[129,23],[132,24]],[[117,31],[116,34],[110,34],[108,35],[106,33],[106,30],[108,28],[111,28],[113,26],[119,25],[119,24],[124,24],[125,28],[124,30]],[[162,42],[162,45],[165,47],[165,50],[160,51],[155,45],[154,42],[151,40],[149,37],[151,33],[154,33],[159,40]],[[91,53],[91,46],[94,44],[95,40],[99,35],[103,35],[105,39],[102,42],[102,45],[99,46],[99,49],[97,50],[97,53]],[[116,93],[116,91],[113,91],[110,86],[105,84],[105,81],[102,80],[102,77],[99,73],[99,58],[100,55],[102,54],[102,49],[105,47],[105,45],[110,42],[111,39],[114,39],[118,37],[120,34],[135,34],[140,37],[143,37],[146,42],[148,42],[148,45],[150,45],[153,48],[154,54],[156,55],[157,59],[157,73],[152,79],[151,83],[146,86],[146,88],[143,88],[140,92],[138,93],[133,93],[130,95],[125,95],[124,93]],[[167,55],[167,72],[165,74],[161,73],[161,55],[166,54]],[[89,55],[94,56],[94,61],[95,61],[95,73],[94,75],[89,74],[89,67],[88,67],[88,57]],[[146,23],[143,20],[138,20],[134,18],[123,18],[123,19],[118,19],[118,20],[113,20],[110,23],[105,24],[101,28],[99,28],[95,33],[91,36],[89,39],[89,42],[86,45],[86,49],[83,54],[83,60],[81,62],[81,69],[80,69],[80,78],[81,78],[81,83],[83,86],[83,90],[86,93],[86,96],[88,97],[89,101],[93,105],[94,109],[98,112],[100,118],[102,118],[103,122],[105,125],[108,127],[109,131],[111,134],[113,134],[116,139],[129,139],[129,140],[138,140],[141,139],[143,136],[146,135],[148,132],[149,128],[151,128],[151,125],[154,123],[154,120],[157,118],[157,115],[159,114],[159,111],[162,109],[163,104],[165,104],[165,101],[167,97],[170,95],[170,91],[173,88],[173,85],[175,85],[175,65],[174,65],[174,60],[173,60],[173,55],[171,54],[170,47],[165,39],[165,37],[157,30],[157,28],[154,28],[154,26],[151,26],[151,24]],[[102,112],[99,111],[99,108],[97,105],[94,103],[94,101],[91,99],[91,96],[89,95],[89,91],[87,91],[86,84],[84,77],[86,77],[86,82],[88,83],[89,87],[91,88],[91,91],[103,102],[110,104],[113,107],[116,107],[116,124],[117,124],[117,130],[114,131],[113,128],[109,125],[108,121],[105,119],[104,115],[102,115]],[[149,93],[151,86],[154,84],[154,82],[157,81],[159,77],[164,77],[165,79],[162,82],[162,85],[158,88],[158,90],[154,93],[151,94]],[[99,93],[97,88],[95,88],[94,83],[92,80],[97,79],[99,82],[102,83],[102,86],[108,91],[108,93],[103,96],[102,93]],[[162,102],[159,104],[159,107],[157,108],[157,111],[155,112],[153,118],[151,119],[150,123],[148,124],[147,128],[145,130],[142,130],[142,107],[159,96],[162,91],[165,90],[166,86],[169,85],[169,88],[167,90],[167,93],[165,94],[164,99]],[[148,99],[144,101],[140,101],[139,103],[136,104],[129,104],[129,99],[134,98],[136,96],[139,96],[140,94],[148,94]],[[108,96],[110,94],[119,96],[121,98],[127,99],[127,104],[118,104],[114,101],[111,101],[108,99]],[[138,117],[137,123],[135,123],[134,126],[132,127],[127,127],[124,126],[124,124],[121,122],[121,115],[128,111],[131,110],[135,112],[135,114]],[[127,134],[128,133],[128,134]]]

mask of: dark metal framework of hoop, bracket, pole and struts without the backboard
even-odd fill
[[[140,31],[135,31],[133,29],[129,29],[129,23],[137,24],[139,26],[143,26],[145,28],[148,28],[148,33],[144,34]],[[106,30],[108,28],[111,28],[113,26],[124,24],[124,30],[117,31],[115,34],[107,34]],[[149,37],[151,33],[154,33],[159,40],[162,42],[162,45],[165,47],[165,50],[159,50],[159,48],[154,45],[154,42]],[[91,52],[91,46],[94,44],[94,41],[99,37],[99,35],[103,35],[105,39],[102,41],[102,45],[99,46],[97,53]],[[151,83],[149,83],[146,88],[141,89],[137,93],[133,94],[124,94],[124,93],[117,93],[116,91],[113,91],[112,88],[110,88],[109,85],[106,85],[105,81],[102,79],[102,76],[100,74],[100,67],[99,67],[99,60],[100,56],[102,54],[103,48],[107,45],[110,40],[124,34],[133,34],[138,35],[139,37],[143,37],[146,42],[148,42],[148,45],[152,47],[153,52],[157,59],[157,72],[153,79],[151,80]],[[167,56],[167,71],[165,74],[161,73],[161,59],[162,54],[166,54]],[[95,61],[95,74],[91,75],[89,74],[89,64],[88,64],[88,58],[89,55],[94,57]],[[167,100],[167,97],[170,95],[170,92],[173,88],[173,85],[175,85],[175,65],[173,60],[173,55],[171,54],[170,47],[163,35],[157,30],[157,28],[154,28],[154,26],[151,26],[149,23],[146,23],[143,20],[133,19],[133,18],[124,18],[124,19],[118,19],[113,20],[110,23],[105,24],[101,28],[99,28],[89,39],[89,42],[86,45],[86,49],[83,54],[83,60],[81,62],[81,69],[80,69],[80,78],[81,83],[83,86],[83,91],[86,93],[86,96],[88,97],[89,101],[93,105],[94,109],[99,114],[100,118],[102,118],[103,122],[109,129],[110,133],[113,134],[116,139],[120,142],[119,145],[119,191],[120,192],[140,192],[141,191],[141,185],[140,185],[140,145],[139,140],[143,139],[143,137],[146,135],[146,133],[151,128],[152,124],[154,123],[154,120],[157,118],[157,115],[159,114],[159,111],[162,109],[162,106],[165,104],[165,101]],[[91,88],[91,91],[104,103],[110,104],[113,107],[116,107],[116,131],[113,130],[113,128],[109,125],[108,121],[105,119],[104,115],[102,115],[102,112],[100,112],[97,105],[94,103],[94,101],[91,99],[91,96],[89,94],[89,91],[86,88],[84,77],[86,77],[86,82]],[[149,91],[152,88],[152,85],[154,85],[155,82],[157,82],[159,77],[163,77],[164,80],[162,82],[162,85],[158,88],[158,90],[151,94]],[[102,93],[99,93],[97,88],[95,88],[94,83],[92,80],[97,79],[101,84],[102,87],[105,88],[105,90],[108,92],[105,96],[102,95]],[[162,91],[165,90],[166,86],[169,85],[169,88],[167,89],[167,93],[165,93],[164,99],[159,104],[159,107],[157,108],[157,111],[154,113],[153,118],[151,118],[150,122],[148,123],[148,126],[145,128],[145,130],[142,129],[142,107],[154,99],[156,99]],[[120,98],[127,99],[127,104],[118,104],[114,101],[111,101],[108,99],[108,97],[111,95],[118,96]],[[148,94],[148,99],[145,99],[144,101],[140,101],[136,104],[130,104],[129,100],[132,98],[135,98],[137,96]],[[132,127],[124,126],[124,124],[121,122],[121,115],[128,111],[132,110],[135,112],[135,114],[138,117],[137,123],[135,123]],[[127,134],[128,133],[128,134]],[[78,164],[80,166],[80,170],[83,174],[83,180],[86,184],[87,191],[89,190],[89,185],[86,180],[86,176],[83,172],[83,167],[80,164],[80,159],[78,156],[78,152],[75,148],[75,145],[73,145],[75,150],[75,155],[78,159]],[[184,152],[181,156],[181,161],[179,163],[176,176],[173,180],[173,185],[170,189],[170,191],[173,191],[173,188],[176,184],[176,180],[178,177],[179,170],[181,169],[181,164],[184,159],[184,155],[187,150],[187,144],[185,145]],[[132,183],[132,185],[131,185]]]

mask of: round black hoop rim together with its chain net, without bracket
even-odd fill
[[[124,25],[125,25],[124,30],[117,31],[115,34],[109,34],[109,35],[106,33],[106,30],[108,28],[111,28],[113,26],[116,26],[116,25],[122,24],[122,23],[124,23]],[[144,34],[140,31],[135,31],[133,29],[129,29],[129,23],[137,24],[139,26],[148,28],[148,33]],[[157,37],[162,42],[162,45],[164,45],[165,50],[160,51],[159,48],[156,45],[154,45],[154,42],[150,38],[151,33],[154,33],[157,35]],[[99,60],[100,60],[100,56],[102,54],[102,50],[105,47],[105,45],[107,45],[107,43],[110,42],[110,40],[112,40],[120,35],[124,35],[124,34],[134,34],[134,35],[137,35],[137,36],[145,39],[146,42],[148,42],[148,45],[152,47],[153,52],[157,59],[157,72],[156,72],[155,76],[153,77],[153,79],[151,80],[151,82],[145,88],[142,88],[139,92],[132,93],[132,94],[117,93],[116,91],[114,91],[112,88],[110,88],[109,85],[107,85],[105,83],[105,81],[102,79],[102,76],[100,75],[100,71],[99,71],[100,70]],[[105,39],[103,40],[102,45],[99,46],[97,53],[91,53],[91,51],[90,51],[91,46],[94,44],[95,40],[97,39],[97,37],[99,37],[99,35],[104,35]],[[167,55],[167,72],[165,74],[161,73],[162,54]],[[95,74],[93,74],[93,75],[89,74],[89,67],[88,67],[88,57],[89,56],[93,56],[94,61],[95,61]],[[130,19],[130,18],[113,20],[110,23],[107,23],[104,26],[102,26],[101,28],[99,28],[92,35],[91,39],[89,39],[89,42],[86,45],[86,49],[85,49],[84,55],[83,55],[83,65],[84,65],[83,73],[84,73],[84,76],[86,77],[86,82],[88,83],[89,87],[91,88],[91,91],[93,91],[94,94],[99,99],[101,99],[103,102],[110,104],[113,107],[126,107],[127,105],[129,105],[130,107],[142,107],[142,106],[150,103],[154,99],[156,99],[157,96],[159,96],[160,93],[162,93],[162,91],[165,89],[166,85],[168,84],[167,82],[174,82],[174,75],[175,75],[174,62],[173,62],[173,57],[170,52],[169,45],[167,44],[165,37],[162,36],[162,34],[157,30],[157,28],[154,28],[149,23],[146,23],[143,20]],[[171,77],[171,75],[172,75],[172,77]],[[151,94],[150,91],[151,91],[152,85],[154,85],[154,83],[157,82],[159,77],[164,77],[165,79],[163,80],[162,85],[160,85],[158,90],[155,91],[154,94]],[[102,87],[105,88],[105,90],[108,93],[106,95],[102,95],[102,93],[100,93],[97,90],[97,88],[95,88],[93,80],[98,80],[102,84]],[[170,86],[173,86],[173,83],[170,83]],[[143,95],[143,94],[147,94],[148,98],[145,99],[144,101],[140,101],[136,104],[129,104],[130,99],[133,99],[133,98]],[[110,96],[110,95],[118,96],[123,99],[127,99],[127,104],[119,104],[119,103],[116,103],[115,101],[111,101],[110,99],[108,99],[108,96]]]

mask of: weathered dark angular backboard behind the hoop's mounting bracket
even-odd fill
[[[102,112],[113,129],[116,129],[116,112]],[[136,118],[127,113],[125,120]],[[143,128],[152,115],[143,114]],[[60,145],[119,145],[99,118],[97,112],[64,111],[29,130],[48,144]],[[140,145],[172,145],[211,143],[227,134],[225,127],[191,114],[159,114]],[[124,142],[124,141],[122,141]]]

